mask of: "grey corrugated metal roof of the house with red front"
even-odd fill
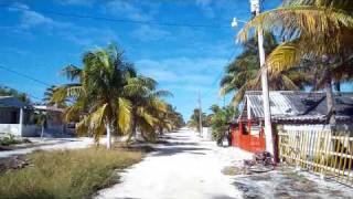
[[[275,122],[324,122],[327,119],[328,107],[325,93],[271,91],[269,93],[269,100],[271,117]],[[352,93],[334,95],[334,104],[338,119],[353,119]],[[247,114],[247,108],[250,108],[252,118],[264,118],[261,92],[250,91],[245,93],[245,106],[240,117]]]

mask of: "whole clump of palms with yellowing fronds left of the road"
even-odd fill
[[[50,103],[65,104],[65,119],[77,123],[79,135],[90,135],[99,143],[106,134],[107,148],[111,148],[113,136],[128,136],[130,143],[139,132],[145,140],[153,142],[183,125],[181,114],[164,100],[172,94],[139,74],[116,45],[86,52],[83,66],[71,64],[62,74],[72,83],[47,90]]]

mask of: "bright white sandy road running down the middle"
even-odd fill
[[[168,136],[170,145],[158,146],[157,151],[122,175],[122,184],[99,191],[97,198],[242,198],[232,178],[221,170],[250,158],[250,154],[201,142],[189,129]]]

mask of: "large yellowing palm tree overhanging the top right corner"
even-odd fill
[[[261,28],[279,33],[284,43],[268,57],[267,66],[281,73],[309,59],[321,71],[328,98],[328,115],[334,115],[332,80],[352,76],[353,1],[350,0],[297,0],[264,12],[248,22],[238,38],[246,41],[250,29]],[[342,71],[349,74],[342,75]],[[330,116],[330,124],[335,124]]]

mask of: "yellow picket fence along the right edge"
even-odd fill
[[[287,126],[278,130],[278,150],[289,165],[353,186],[352,132]]]

